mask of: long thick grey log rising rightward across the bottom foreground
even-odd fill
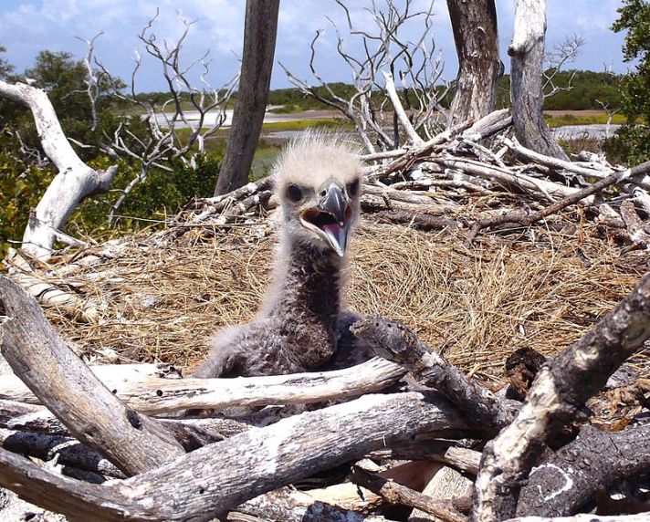
[[[0,486],[84,520],[209,520],[255,496],[416,433],[464,429],[439,395],[397,393],[305,412],[184,454],[121,483],[89,485],[0,450]],[[435,401],[435,402],[434,402]]]

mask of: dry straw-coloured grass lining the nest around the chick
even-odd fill
[[[353,244],[347,300],[365,315],[398,318],[468,371],[500,381],[505,357],[529,346],[552,354],[578,339],[640,276],[634,255],[592,237],[537,230],[535,242],[432,234],[366,222]],[[215,329],[251,318],[270,277],[274,233],[267,222],[183,245],[135,242],[71,282],[100,299],[100,324],[47,314],[89,353],[188,367]],[[646,356],[637,366],[647,372]]]

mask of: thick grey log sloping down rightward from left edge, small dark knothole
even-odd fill
[[[127,475],[152,469],[183,448],[163,426],[127,408],[52,329],[34,298],[0,277],[0,350],[14,372],[79,441]]]

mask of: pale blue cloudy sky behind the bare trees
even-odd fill
[[[431,0],[413,0],[414,11],[426,9]],[[396,0],[402,3],[404,0]],[[471,3],[471,2],[469,2]],[[371,30],[372,20],[364,10],[370,0],[347,0],[355,24]],[[382,5],[382,0],[376,0]],[[175,41],[183,25],[179,14],[194,21],[183,46],[183,63],[189,64],[209,51],[210,70],[207,80],[213,87],[223,85],[236,74],[241,56],[244,30],[245,0],[0,0],[0,46],[6,47],[5,59],[22,72],[34,63],[38,51],[68,51],[75,57],[86,54],[86,44],[77,38],[89,39],[101,31],[96,44],[96,57],[111,74],[131,78],[133,57],[144,58],[136,77],[138,91],[163,90],[160,67],[147,59],[138,35],[158,9],[153,23],[158,41]],[[614,34],[610,26],[617,17],[621,0],[548,0],[547,48],[566,37],[582,37],[581,54],[571,68],[625,72],[621,47],[624,35]],[[514,0],[497,0],[498,33],[501,59],[508,70],[506,50],[512,37]],[[296,77],[317,84],[309,71],[309,42],[319,29],[316,66],[328,81],[350,81],[350,70],[336,52],[336,32],[328,17],[344,27],[341,8],[333,0],[281,0],[278,18],[276,61],[271,87],[290,87],[278,62]],[[435,0],[433,17],[435,52],[444,64],[443,78],[456,77],[456,51],[445,0]],[[422,23],[414,20],[405,27],[404,35],[415,39]],[[344,45],[352,55],[361,50],[358,38],[346,37]],[[136,51],[137,49],[137,51]],[[198,82],[199,72],[193,74]]]

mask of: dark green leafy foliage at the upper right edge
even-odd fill
[[[612,29],[627,32],[624,60],[638,62],[634,71],[623,78],[623,111],[628,125],[604,148],[616,161],[634,165],[650,160],[650,2],[624,0],[618,13]]]

